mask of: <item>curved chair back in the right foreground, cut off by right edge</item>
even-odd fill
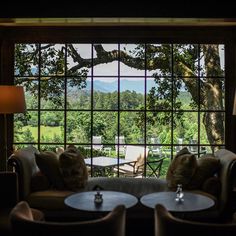
[[[177,218],[161,204],[155,206],[154,217],[155,236],[172,236],[176,232],[181,236],[236,235],[236,223],[209,223]]]

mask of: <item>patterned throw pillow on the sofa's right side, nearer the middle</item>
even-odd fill
[[[170,163],[166,180],[169,189],[176,190],[178,184],[182,184],[183,189],[188,185],[197,169],[197,159],[187,148],[180,150]]]

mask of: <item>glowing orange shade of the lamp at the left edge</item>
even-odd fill
[[[0,85],[0,113],[13,114],[25,111],[24,88],[22,86]]]

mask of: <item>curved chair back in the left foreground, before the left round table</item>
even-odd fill
[[[14,235],[124,236],[126,208],[124,205],[118,205],[107,215],[93,220],[52,222],[44,220],[42,211],[32,209],[26,201],[21,201],[10,213],[10,224]]]

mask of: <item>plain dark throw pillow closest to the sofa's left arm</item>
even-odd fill
[[[59,168],[57,154],[51,151],[36,153],[35,160],[40,171],[47,176],[52,187],[59,190],[64,189],[63,176]]]

